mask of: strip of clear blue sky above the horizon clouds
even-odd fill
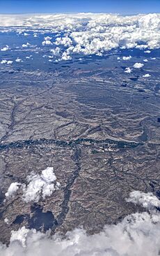
[[[0,0],[0,13],[160,13],[160,0]]]

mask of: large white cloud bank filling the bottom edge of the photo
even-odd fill
[[[0,245],[3,256],[158,256],[160,250],[160,201],[152,193],[131,192],[129,202],[148,212],[128,215],[117,225],[106,225],[99,234],[83,229],[59,234],[36,232],[21,227],[12,231],[8,247]],[[154,209],[155,208],[155,209]]]

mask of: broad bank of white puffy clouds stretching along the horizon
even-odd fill
[[[160,14],[155,13],[0,15],[0,26],[42,28],[46,32],[49,28],[50,33],[57,33],[58,37],[51,43],[51,36],[45,36],[43,45],[60,45],[65,48],[62,54],[65,51],[70,56],[74,53],[101,56],[114,48],[147,49],[145,52],[160,48],[159,20]]]

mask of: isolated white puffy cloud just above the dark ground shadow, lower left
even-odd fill
[[[13,197],[19,188],[22,189],[22,199],[26,202],[38,202],[40,198],[45,199],[58,190],[60,183],[56,180],[56,175],[52,167],[47,167],[41,174],[32,173],[27,177],[27,185],[21,183],[11,183],[6,192],[6,197]]]

